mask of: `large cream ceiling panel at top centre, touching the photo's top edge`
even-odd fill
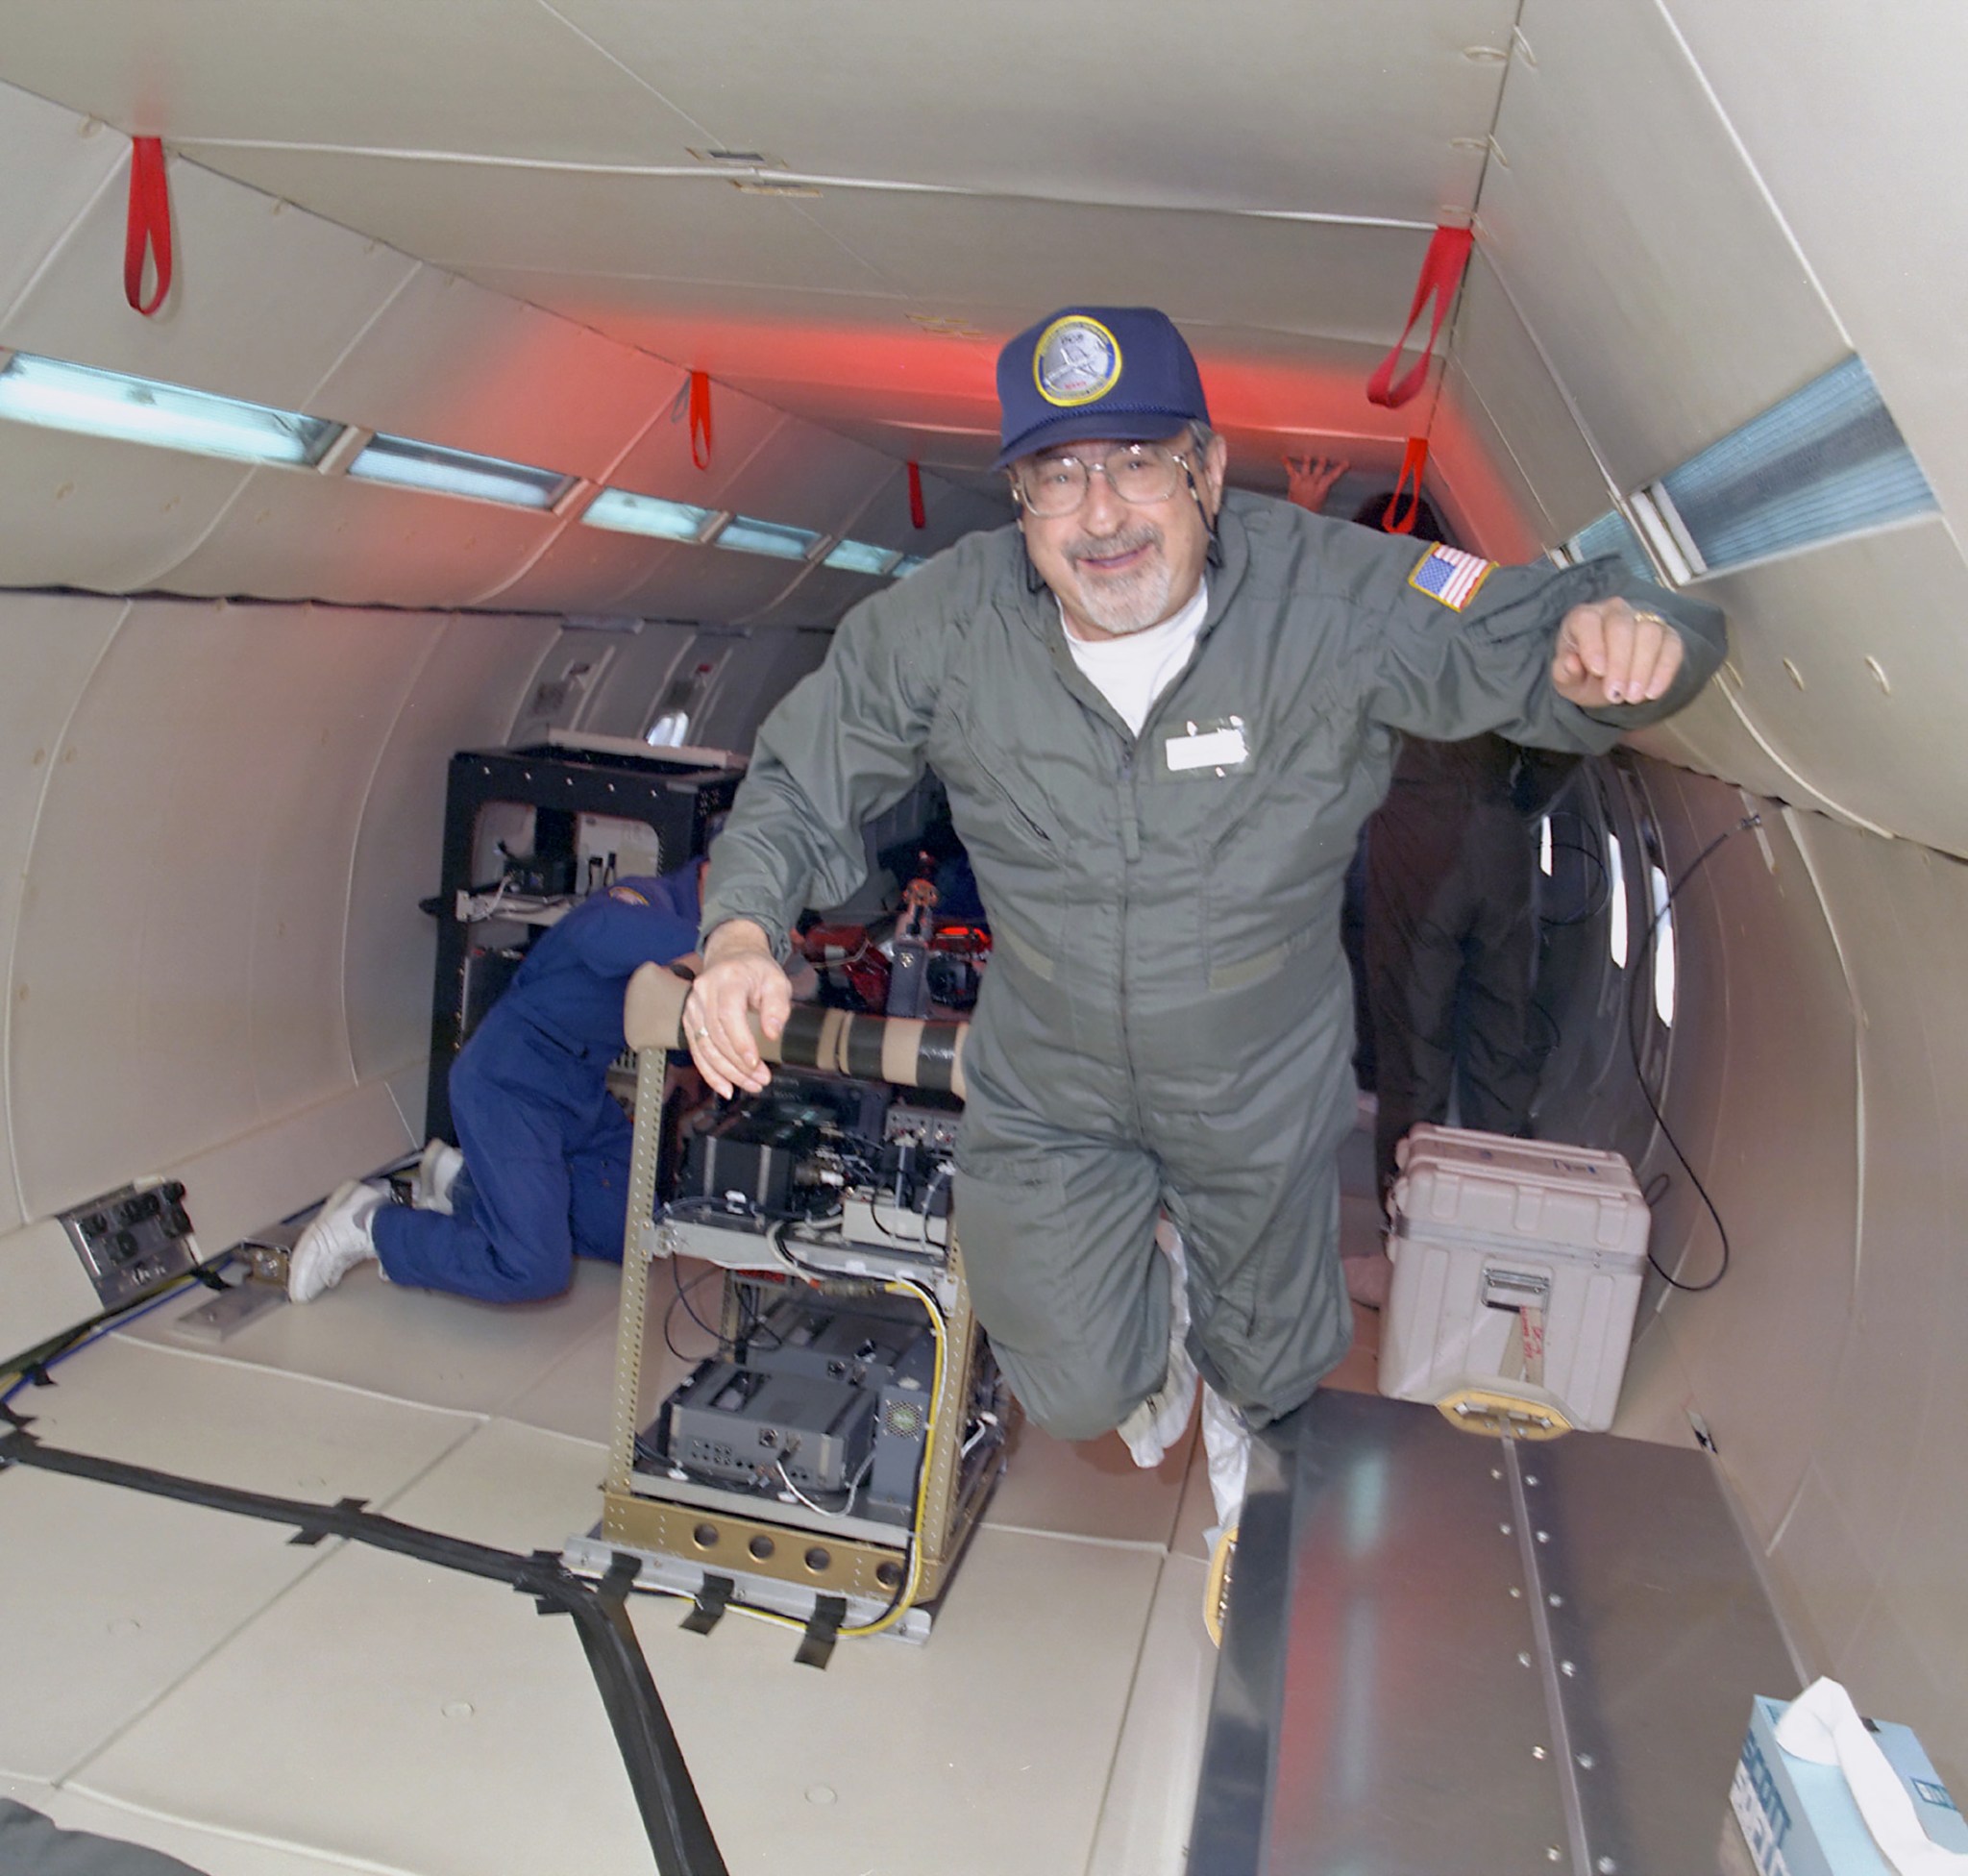
[[[1511,0],[1208,16],[1082,0],[905,10],[555,0],[724,148],[795,173],[1433,220],[1468,205]],[[1208,83],[1199,61],[1216,55]],[[1236,136],[1226,136],[1226,126]]]

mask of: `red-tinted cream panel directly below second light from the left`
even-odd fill
[[[173,593],[464,606],[561,524],[492,502],[260,469],[224,520],[159,577]]]

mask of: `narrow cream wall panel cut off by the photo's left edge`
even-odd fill
[[[6,990],[0,1049],[8,1061],[16,1012],[26,1014],[35,992],[35,984],[14,967],[14,947],[30,896],[28,858],[41,803],[55,774],[75,762],[69,724],[124,612],[124,602],[110,598],[55,593],[0,596],[0,640],[6,644],[6,683],[0,683],[0,986]],[[14,1165],[14,1136],[0,1128],[0,1238],[28,1217]]]

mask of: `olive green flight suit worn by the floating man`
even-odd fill
[[[1132,736],[1067,652],[1015,528],[856,606],[766,720],[718,843],[705,933],[781,945],[862,880],[862,823],[943,778],[990,911],[954,1217],[1025,1409],[1067,1439],[1163,1380],[1159,1207],[1189,1248],[1189,1348],[1252,1423],[1346,1352],[1334,1152],[1354,1124],[1346,862],[1395,732],[1580,752],[1685,705],[1712,606],[1616,559],[1498,567],[1458,608],[1427,543],[1232,492],[1187,669]],[[1661,703],[1586,717],[1549,683],[1563,614],[1628,594],[1687,663]]]

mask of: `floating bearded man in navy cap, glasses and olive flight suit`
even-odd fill
[[[931,764],[994,939],[954,1217],[998,1358],[1067,1439],[1173,1439],[1189,1360],[1261,1427],[1352,1331],[1338,906],[1395,736],[1604,752],[1706,683],[1722,620],[1616,559],[1496,567],[1226,492],[1145,307],[1041,321],[998,394],[1017,522],[856,606],[766,720],[685,1028],[720,1093],[766,1085],[746,1012],[785,1022],[789,923],[860,884],[862,823]]]

